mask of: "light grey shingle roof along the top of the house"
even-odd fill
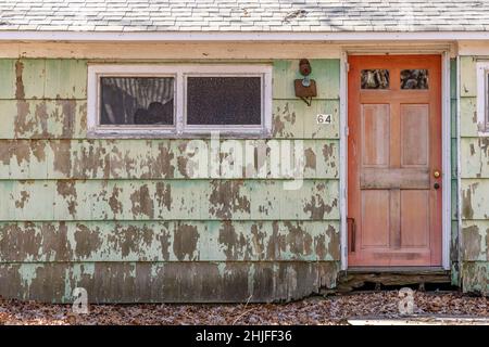
[[[489,0],[0,0],[0,30],[489,31]]]

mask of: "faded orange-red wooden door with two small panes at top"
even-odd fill
[[[441,59],[349,65],[349,266],[441,266]]]

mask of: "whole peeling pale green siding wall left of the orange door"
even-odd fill
[[[190,140],[87,139],[87,63],[0,60],[0,295],[269,301],[336,285],[339,60],[312,61],[311,107],[291,87],[299,61],[273,62],[273,134],[256,141],[300,141],[298,190],[284,189],[273,153],[253,162],[265,177],[192,178]]]

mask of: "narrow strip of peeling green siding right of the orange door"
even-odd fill
[[[478,136],[475,56],[461,56],[461,279],[465,292],[489,294],[488,138]]]

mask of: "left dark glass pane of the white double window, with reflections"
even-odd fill
[[[100,124],[173,125],[173,77],[102,77]]]

